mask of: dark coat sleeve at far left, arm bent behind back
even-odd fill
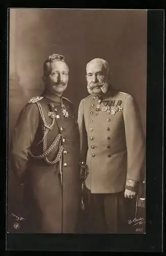
[[[39,124],[37,105],[27,104],[21,111],[9,148],[9,169],[19,183],[23,183],[23,174],[27,166],[28,150],[31,147]]]

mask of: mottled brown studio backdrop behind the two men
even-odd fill
[[[43,62],[52,53],[64,55],[69,65],[65,96],[76,114],[80,99],[88,95],[86,64],[104,58],[113,87],[132,94],[139,104],[146,132],[146,10],[11,9],[9,40],[9,141],[21,108],[43,90]]]

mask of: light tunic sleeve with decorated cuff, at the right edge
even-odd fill
[[[123,115],[127,145],[126,188],[133,190],[145,164],[145,139],[139,107],[131,95],[125,99]]]

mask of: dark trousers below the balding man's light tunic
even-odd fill
[[[92,194],[84,187],[85,210],[81,232],[130,233],[128,221],[134,218],[135,199],[126,199],[124,191],[111,194]]]

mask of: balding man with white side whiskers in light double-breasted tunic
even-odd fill
[[[126,200],[136,198],[145,161],[139,108],[134,98],[110,86],[107,61],[87,64],[89,96],[78,109],[86,232],[127,232]]]

